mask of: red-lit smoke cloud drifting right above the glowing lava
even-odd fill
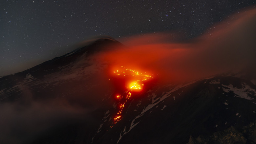
[[[231,15],[209,32],[185,43],[168,33],[145,34],[123,40],[129,48],[99,54],[114,65],[136,67],[160,81],[184,82],[228,72],[255,71],[256,9]],[[171,35],[171,37],[170,37]]]

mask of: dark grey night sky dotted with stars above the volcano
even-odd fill
[[[246,7],[255,0],[2,0],[0,76],[64,55],[94,36],[176,31],[192,39]]]

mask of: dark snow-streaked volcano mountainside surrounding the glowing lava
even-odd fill
[[[152,80],[125,99],[113,125],[117,96],[128,92],[111,63],[96,55],[120,48],[127,47],[99,38],[1,77],[1,143],[256,143],[256,83],[242,73],[185,83],[149,73]]]

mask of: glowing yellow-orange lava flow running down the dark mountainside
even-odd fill
[[[117,115],[114,117],[113,125],[116,124],[122,117],[122,111],[125,106],[127,100],[131,97],[133,91],[140,91],[142,86],[144,85],[144,81],[151,79],[152,77],[147,75],[146,73],[140,73],[139,71],[135,71],[132,69],[125,69],[121,66],[120,69],[114,71],[114,73],[118,77],[127,77],[130,81],[130,84],[126,86],[126,91],[122,95],[118,95],[117,99],[119,100],[119,111]]]

